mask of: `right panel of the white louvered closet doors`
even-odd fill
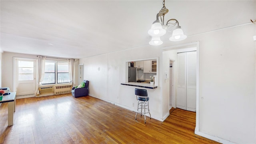
[[[196,52],[187,53],[186,110],[196,111]]]

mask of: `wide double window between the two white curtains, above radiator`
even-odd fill
[[[68,62],[45,62],[42,84],[60,84],[70,82]]]

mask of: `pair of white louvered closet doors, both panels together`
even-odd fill
[[[196,51],[177,54],[176,106],[196,111]]]

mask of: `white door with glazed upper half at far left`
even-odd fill
[[[16,95],[34,95],[36,91],[36,60],[16,59],[15,62]]]

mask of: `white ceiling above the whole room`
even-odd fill
[[[187,36],[256,19],[256,1],[167,1]],[[0,1],[0,46],[17,52],[85,58],[148,45],[162,0]],[[168,40],[163,36],[162,40]],[[53,45],[50,45],[53,44]]]

